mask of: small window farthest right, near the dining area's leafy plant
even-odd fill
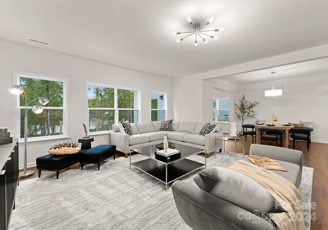
[[[229,122],[229,98],[213,99],[213,121]]]

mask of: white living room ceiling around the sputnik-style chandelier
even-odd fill
[[[2,0],[0,39],[176,78],[328,44],[327,9],[322,0]],[[188,16],[214,17],[208,29],[224,31],[197,47],[176,43]]]

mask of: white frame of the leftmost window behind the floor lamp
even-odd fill
[[[42,136],[42,137],[28,137],[27,142],[38,142],[38,141],[46,141],[46,140],[58,140],[58,139],[68,139],[69,138],[69,94],[68,87],[69,82],[67,78],[62,78],[59,76],[38,74],[38,73],[30,73],[23,71],[13,71],[13,85],[20,84],[20,77],[23,78],[32,78],[39,80],[47,80],[47,81],[55,81],[63,83],[63,107],[43,107],[44,109],[63,109],[63,134],[54,135],[54,136]],[[13,130],[15,132],[16,137],[18,138],[18,142],[24,142],[24,138],[20,138],[20,109],[25,108],[25,106],[20,106],[19,96],[13,97]],[[33,99],[31,99],[33,100]],[[28,106],[27,108],[31,108]]]

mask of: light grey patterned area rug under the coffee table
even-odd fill
[[[132,155],[132,162],[144,159]],[[242,155],[237,155],[237,159]],[[203,162],[204,155],[192,156]],[[228,166],[235,157],[211,156],[207,166]],[[88,165],[19,183],[10,229],[191,229],[181,219],[171,187],[144,174],[129,160],[106,161],[100,171]],[[193,174],[181,180],[196,186]],[[311,202],[313,168],[304,167],[300,191]],[[306,206],[306,205],[305,205]],[[310,207],[310,205],[308,205]],[[305,230],[310,229],[310,209],[305,209]]]

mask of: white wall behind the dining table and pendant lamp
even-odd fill
[[[328,73],[277,80],[274,85],[282,89],[281,97],[264,97],[264,90],[270,89],[272,82],[260,82],[239,85],[238,98],[244,93],[247,100],[259,102],[255,107],[257,119],[269,121],[274,113],[280,124],[314,121],[312,140],[328,143],[328,115],[320,114],[320,111],[328,111]],[[255,120],[247,119],[245,123],[253,124]],[[240,130],[240,124],[238,128]]]

